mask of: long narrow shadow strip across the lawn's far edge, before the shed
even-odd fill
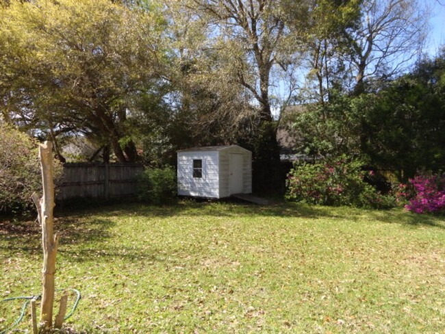
[[[62,212],[62,216],[75,219],[88,214],[101,214],[112,217],[135,214],[143,217],[168,218],[175,216],[206,215],[215,217],[242,217],[242,216],[270,216],[270,217],[296,217],[296,218],[332,218],[351,220],[353,222],[363,219],[364,214],[381,222],[400,223],[409,226],[431,226],[445,229],[445,217],[431,214],[413,214],[403,209],[373,210],[353,207],[324,207],[277,201],[271,205],[256,205],[238,199],[226,198],[223,200],[186,199],[170,205],[146,205],[143,203],[114,203],[100,207],[84,207],[79,211]]]

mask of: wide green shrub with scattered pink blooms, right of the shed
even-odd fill
[[[394,206],[392,196],[381,195],[364,181],[367,172],[362,166],[345,156],[316,164],[296,164],[288,175],[286,198],[321,205]]]

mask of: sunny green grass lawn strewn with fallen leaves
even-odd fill
[[[37,223],[6,226],[0,298],[40,294]],[[445,333],[444,217],[184,201],[84,209],[55,230],[79,332]],[[6,304],[0,329],[21,307]]]

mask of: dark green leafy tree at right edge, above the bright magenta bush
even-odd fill
[[[364,99],[362,149],[400,179],[445,166],[445,53]]]

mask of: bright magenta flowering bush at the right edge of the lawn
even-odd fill
[[[417,175],[401,184],[397,201],[416,214],[445,211],[445,175]]]

